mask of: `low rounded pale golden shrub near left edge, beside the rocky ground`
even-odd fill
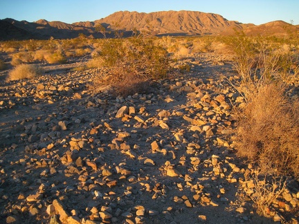
[[[30,64],[20,64],[16,66],[10,73],[8,73],[8,81],[11,80],[23,80],[42,75],[43,71],[41,68],[30,65]]]

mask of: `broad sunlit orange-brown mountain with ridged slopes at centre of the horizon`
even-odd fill
[[[95,23],[113,24],[114,21],[119,21],[120,27],[125,30],[142,30],[148,27],[158,35],[216,35],[230,27],[242,29],[242,24],[228,21],[221,15],[184,10],[152,13],[115,12],[104,19],[96,20]]]

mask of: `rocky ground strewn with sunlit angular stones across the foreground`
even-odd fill
[[[270,218],[244,193],[254,167],[235,156],[233,68],[211,54],[174,66],[186,63],[125,98],[90,88],[96,69],[1,80],[0,223],[298,223],[294,181]]]

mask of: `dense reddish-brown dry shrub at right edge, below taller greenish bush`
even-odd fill
[[[255,161],[264,172],[298,178],[299,103],[274,82],[260,83],[247,97],[237,122],[237,155]]]

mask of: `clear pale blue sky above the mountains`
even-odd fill
[[[94,21],[117,11],[192,10],[243,24],[283,20],[299,24],[299,0],[0,0],[0,19]]]

